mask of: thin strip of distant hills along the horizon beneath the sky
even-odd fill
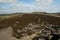
[[[11,13],[11,14],[0,14],[0,16],[10,16],[10,15],[16,15],[16,14],[47,14],[47,15],[58,15],[58,16],[60,16],[60,13],[47,13],[47,12]]]

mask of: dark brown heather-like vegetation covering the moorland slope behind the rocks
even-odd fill
[[[60,17],[48,16],[44,14],[23,14],[23,16],[18,15],[1,20],[0,29],[11,26],[14,32],[13,34],[16,34],[18,29],[22,30],[29,23],[36,24],[39,23],[40,25],[41,24],[60,25]]]

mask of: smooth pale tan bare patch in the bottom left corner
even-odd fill
[[[11,34],[12,34],[11,27],[0,30],[0,40],[18,40],[12,37]]]

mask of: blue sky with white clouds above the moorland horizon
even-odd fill
[[[60,12],[60,0],[0,0],[0,14],[16,12]]]

